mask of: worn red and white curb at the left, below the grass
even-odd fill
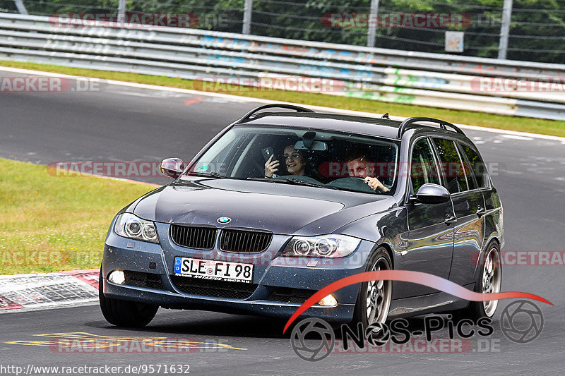
[[[97,303],[99,273],[85,269],[0,276],[0,313]]]

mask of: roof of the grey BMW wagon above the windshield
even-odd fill
[[[402,123],[402,121],[319,112],[261,112],[254,114],[254,116],[249,119],[238,121],[235,125],[246,124],[253,126],[292,126],[304,129],[314,128],[323,129],[325,131],[345,131],[398,140],[398,128],[400,123]],[[463,136],[462,138],[464,140],[468,140],[462,133],[448,131],[434,126],[418,123],[417,125],[410,124],[410,128],[407,129],[413,128],[417,128],[417,133],[429,131],[436,135]]]

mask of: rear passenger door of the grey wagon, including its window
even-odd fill
[[[484,240],[484,198],[464,156],[454,140],[433,138],[446,188],[451,193],[456,223],[453,260],[449,280],[456,284],[472,284],[475,258]]]

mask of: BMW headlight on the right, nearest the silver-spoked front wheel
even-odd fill
[[[283,256],[345,257],[357,249],[361,239],[347,235],[295,236]]]

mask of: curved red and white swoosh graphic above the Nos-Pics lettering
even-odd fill
[[[452,281],[448,281],[447,279],[437,277],[428,273],[410,272],[408,270],[380,270],[376,272],[359,273],[338,279],[337,281],[328,284],[328,286],[324,287],[320,291],[314,293],[314,295],[310,296],[307,301],[302,303],[302,305],[300,305],[296,312],[292,314],[290,319],[288,319],[283,333],[287,331],[288,327],[290,327],[292,322],[294,322],[297,317],[299,317],[299,315],[302,315],[305,310],[318,303],[321,298],[325,298],[329,294],[338,291],[345,286],[350,286],[351,284],[359,284],[361,282],[379,280],[404,281],[412,282],[413,284],[421,284],[424,286],[432,287],[432,289],[444,291],[449,295],[457,296],[458,298],[462,298],[467,301],[499,301],[501,299],[508,298],[528,298],[553,305],[553,303],[551,303],[550,301],[545,300],[541,296],[534,295],[533,293],[475,293],[474,291],[465,289],[465,287],[459,286]]]

